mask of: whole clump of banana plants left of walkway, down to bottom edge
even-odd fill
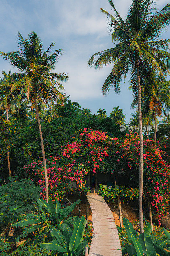
[[[58,200],[55,203],[51,198],[48,203],[42,199],[38,199],[35,208],[38,212],[27,214],[20,217],[20,220],[12,225],[13,228],[28,226],[16,238],[26,237],[31,232],[37,230],[37,236],[33,238],[35,242],[41,243],[41,248],[61,252],[61,255],[79,256],[88,245],[87,238],[83,241],[83,235],[87,221],[84,216],[70,217],[68,215],[79,204],[80,200],[70,204],[62,209]],[[53,254],[52,254],[53,255]]]

